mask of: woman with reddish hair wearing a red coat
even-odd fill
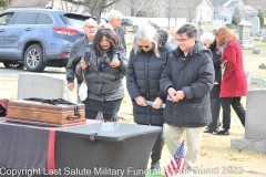
[[[243,54],[235,34],[227,28],[222,27],[215,33],[221,62],[227,61],[226,69],[222,75],[221,93],[223,108],[223,128],[216,135],[229,135],[231,106],[236,112],[242,125],[245,127],[245,115],[241,98],[246,96],[247,82],[243,66]]]

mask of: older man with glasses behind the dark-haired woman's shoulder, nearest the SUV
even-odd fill
[[[86,49],[91,48],[91,45],[92,45],[92,40],[98,31],[96,21],[93,19],[85,20],[83,30],[85,32],[85,35],[82,39],[74,42],[74,44],[72,45],[70,59],[65,66],[68,88],[71,92],[75,87],[75,84],[74,84],[74,76],[76,75],[75,74],[75,65],[80,62],[81,58],[83,58]],[[76,79],[78,79],[78,85],[80,85],[82,83],[82,77],[76,75]],[[76,92],[78,92],[78,88],[76,88]],[[78,93],[76,93],[76,95],[78,95]],[[79,103],[81,102],[79,95],[78,95],[78,102]]]

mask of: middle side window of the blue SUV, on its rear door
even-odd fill
[[[19,12],[13,24],[34,24],[37,12]]]

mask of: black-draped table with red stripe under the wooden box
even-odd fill
[[[41,127],[0,121],[0,176],[144,177],[162,128],[120,123],[102,131],[88,121],[73,127]]]

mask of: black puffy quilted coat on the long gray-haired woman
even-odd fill
[[[157,58],[153,52],[134,54],[134,48],[131,50],[130,60],[126,70],[126,86],[132,98],[134,122],[145,125],[160,125],[164,123],[163,110],[154,110],[152,106],[139,106],[135,97],[143,96],[146,101],[155,101],[156,97],[165,102],[166,95],[160,92],[160,77],[164,70],[170,49],[160,48]]]

